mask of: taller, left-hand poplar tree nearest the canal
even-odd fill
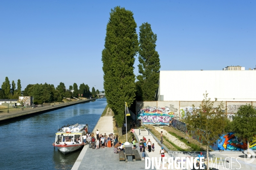
[[[116,6],[111,9],[102,51],[104,89],[109,107],[115,114],[117,125],[122,127],[125,102],[128,107],[135,98],[134,56],[139,48],[132,11]]]

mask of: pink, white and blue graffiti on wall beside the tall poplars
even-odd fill
[[[169,125],[169,121],[177,111],[174,105],[164,108],[146,106],[137,111],[137,119],[142,120],[143,124]]]

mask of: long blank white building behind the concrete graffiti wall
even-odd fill
[[[158,101],[256,101],[256,71],[160,71]]]

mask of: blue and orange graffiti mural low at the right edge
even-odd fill
[[[216,148],[218,145],[218,149]],[[249,147],[252,150],[256,150],[256,139],[249,143]],[[247,142],[242,142],[234,133],[228,133],[221,136],[221,139],[215,143],[215,146],[212,146],[214,150],[247,150]]]

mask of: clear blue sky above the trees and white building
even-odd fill
[[[254,0],[1,0],[0,84],[84,82],[103,90],[101,53],[111,8],[157,34],[160,70],[256,67]],[[137,28],[139,33],[139,28]],[[134,74],[138,75],[138,59]]]

